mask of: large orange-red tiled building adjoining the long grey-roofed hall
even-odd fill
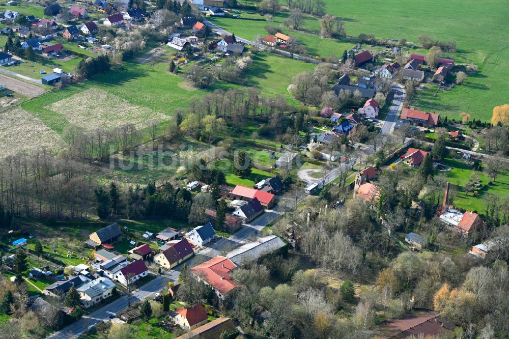
[[[211,260],[191,268],[191,275],[212,287],[212,291],[221,300],[238,287],[230,272],[237,268],[230,259],[217,256]]]

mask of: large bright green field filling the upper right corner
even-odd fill
[[[374,34],[378,38],[400,39],[417,43],[420,35],[441,41],[456,40],[457,64],[475,64],[462,86],[435,95],[435,90],[416,92],[412,104],[417,109],[436,111],[458,119],[461,112],[488,121],[492,109],[509,98],[509,7],[504,0],[478,2],[451,0],[411,2],[386,0],[326,0],[327,13],[345,21],[348,35]],[[370,18],[376,18],[372,20]],[[239,34],[240,36],[240,34]]]

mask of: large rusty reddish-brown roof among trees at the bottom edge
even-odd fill
[[[417,310],[403,319],[390,320],[381,325],[374,339],[395,339],[408,337],[454,336],[456,326],[433,311]]]

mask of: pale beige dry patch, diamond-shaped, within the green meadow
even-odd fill
[[[162,122],[170,119],[150,108],[134,106],[127,100],[96,88],[74,94],[45,108],[60,113],[70,123],[89,130],[97,127],[113,129],[125,124],[144,128],[149,120]]]

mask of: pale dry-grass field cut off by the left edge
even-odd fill
[[[20,107],[0,112],[2,156],[41,149],[52,152],[60,147],[62,147],[60,136],[29,112]]]

